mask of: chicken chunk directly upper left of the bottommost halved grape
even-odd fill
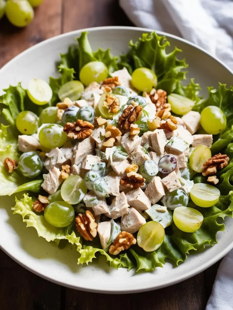
[[[129,214],[121,218],[121,231],[135,233],[145,223],[144,217],[135,208],[130,208]]]

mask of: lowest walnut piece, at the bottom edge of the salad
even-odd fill
[[[129,249],[130,246],[136,244],[136,242],[135,237],[131,233],[120,232],[109,247],[109,253],[112,255],[117,255],[121,251]]]

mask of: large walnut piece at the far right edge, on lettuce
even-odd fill
[[[202,175],[214,175],[217,170],[221,170],[228,165],[230,158],[226,154],[218,153],[203,164]]]

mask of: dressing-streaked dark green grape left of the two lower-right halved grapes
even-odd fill
[[[189,202],[188,195],[182,189],[175,189],[172,192],[167,192],[161,199],[162,204],[170,210],[174,210],[177,207],[186,207]]]

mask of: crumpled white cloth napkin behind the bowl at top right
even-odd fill
[[[233,69],[232,0],[119,0],[138,27],[183,37]]]

